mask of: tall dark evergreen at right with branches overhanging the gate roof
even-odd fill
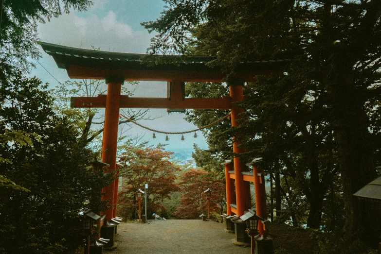
[[[217,60],[210,64],[228,71],[258,54],[293,52],[284,77],[293,86],[284,96],[312,85],[323,97],[319,101],[327,109],[324,118],[332,131],[344,189],[344,231],[359,232],[364,240],[377,243],[381,219],[375,213],[381,212],[380,206],[359,202],[352,195],[376,177],[381,1],[166,2],[169,7],[162,17],[144,23],[149,31],[158,32],[151,52],[216,54]],[[196,40],[189,38],[192,33]]]

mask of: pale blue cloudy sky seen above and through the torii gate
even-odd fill
[[[145,53],[150,38],[154,34],[148,32],[140,25],[141,22],[155,20],[160,17],[164,9],[162,0],[93,0],[94,5],[87,12],[71,11],[69,15],[63,14],[51,22],[38,25],[38,36],[41,41],[64,46],[91,49],[91,46],[102,51],[117,51],[129,53]],[[48,82],[53,88],[57,80],[61,83],[69,80],[66,70],[58,69],[51,56],[42,52],[42,58],[36,63],[36,69],[31,76],[37,76],[44,83]],[[134,93],[135,97],[166,97],[166,84],[164,82],[140,82]],[[183,119],[184,115],[172,113],[168,115],[165,109],[152,109],[154,120],[142,120],[141,124],[168,132],[180,132],[196,129],[193,124]],[[144,135],[142,141],[150,144],[168,143],[167,150],[192,150],[193,143],[203,149],[207,148],[205,139],[198,132],[198,138],[193,133],[184,135],[169,135],[165,142],[165,135],[156,134],[152,139],[152,132],[138,126],[133,126],[127,135]]]

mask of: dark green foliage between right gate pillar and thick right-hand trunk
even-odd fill
[[[258,83],[247,85],[251,96],[240,104],[251,120],[237,130],[246,133],[240,140],[250,148],[245,156],[261,157],[262,167],[280,170],[287,209],[297,213],[300,223],[320,228],[338,158],[325,94],[315,85],[294,86],[284,74],[258,77]]]

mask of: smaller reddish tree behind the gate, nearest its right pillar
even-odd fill
[[[211,219],[218,220],[215,213],[222,214],[225,204],[225,184],[204,169],[190,169],[181,177],[181,201],[175,216],[177,219],[198,219],[200,214],[207,215],[208,201],[204,190],[213,193],[210,200]]]

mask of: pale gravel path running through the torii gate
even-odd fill
[[[249,254],[249,247],[232,243],[234,234],[225,224],[202,220],[149,220],[121,223],[110,254]]]

